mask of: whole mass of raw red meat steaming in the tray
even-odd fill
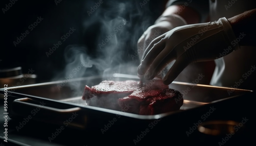
[[[180,101],[176,104],[174,98],[178,98],[179,95]],[[168,89],[168,86],[158,78],[148,83],[131,80],[102,81],[91,88],[86,86],[82,98],[87,100],[90,106],[123,109],[125,112],[141,115],[177,110],[183,104],[182,95],[178,91]]]

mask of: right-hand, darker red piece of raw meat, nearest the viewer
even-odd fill
[[[153,94],[152,94],[153,93]],[[153,92],[135,91],[118,99],[122,111],[140,115],[156,115],[179,110],[183,105],[182,94],[174,89],[156,89]],[[127,105],[131,106],[127,108]]]

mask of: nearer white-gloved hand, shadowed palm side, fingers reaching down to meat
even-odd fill
[[[210,61],[239,49],[233,47],[236,37],[228,20],[176,27],[154,39],[146,48],[138,74],[154,78],[167,63],[176,60],[163,78],[168,85],[192,62]],[[225,51],[225,50],[226,51]],[[228,51],[227,51],[228,49]],[[224,53],[225,52],[225,53]]]

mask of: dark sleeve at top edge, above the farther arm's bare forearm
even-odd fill
[[[204,23],[209,15],[209,0],[169,0],[166,8],[171,5],[185,5],[196,10],[200,14],[200,22]]]

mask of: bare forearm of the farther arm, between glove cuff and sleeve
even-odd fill
[[[169,6],[160,17],[170,16],[172,14],[179,15],[180,17],[185,19],[187,24],[196,24],[199,23],[200,20],[199,14],[193,8],[190,8],[188,6],[182,8],[179,5]]]

